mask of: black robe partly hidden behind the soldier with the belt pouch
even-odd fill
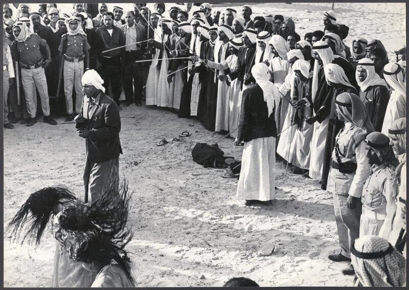
[[[331,111],[329,115],[329,124],[327,139],[325,140],[325,149],[324,149],[324,160],[323,160],[323,173],[321,175],[321,184],[326,187],[329,169],[331,166],[331,154],[335,147],[335,137],[338,135],[339,131],[344,127],[344,122],[340,121],[335,113],[335,98],[342,93],[357,94],[356,90],[349,86],[343,86],[341,88],[334,88],[332,91],[331,99]],[[324,187],[324,188],[325,188]]]

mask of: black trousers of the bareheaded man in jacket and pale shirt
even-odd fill
[[[143,93],[143,71],[142,65],[135,62],[141,60],[142,51],[125,52],[124,74],[122,81],[124,84],[125,99],[127,103],[135,103],[142,100]],[[133,85],[132,85],[133,82]]]

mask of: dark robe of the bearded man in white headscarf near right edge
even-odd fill
[[[370,86],[365,92],[359,92],[359,98],[367,109],[369,119],[375,131],[380,132],[390,98],[388,88],[384,85]]]

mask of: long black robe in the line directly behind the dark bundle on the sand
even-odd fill
[[[214,61],[214,45],[209,45],[206,57],[208,60]],[[214,131],[216,125],[217,86],[219,80],[217,78],[215,80],[215,73],[213,70],[207,68],[207,71],[207,82],[203,80],[200,87],[199,99],[203,99],[203,109],[200,120],[203,122],[203,126],[205,126],[206,129]]]

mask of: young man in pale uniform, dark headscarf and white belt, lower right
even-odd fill
[[[392,230],[396,211],[392,189],[395,168],[392,164],[397,160],[389,143],[389,138],[380,132],[372,132],[365,139],[371,172],[362,190],[360,237],[381,234],[388,237]]]

